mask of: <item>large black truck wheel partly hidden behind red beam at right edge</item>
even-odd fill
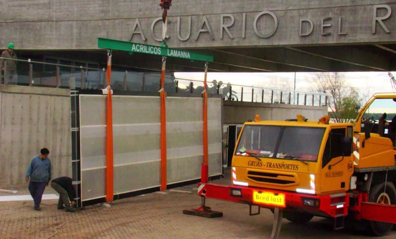
[[[396,204],[396,189],[393,183],[377,184],[370,190],[370,202]],[[370,231],[374,236],[384,236],[392,230],[393,224],[386,222],[369,221]]]

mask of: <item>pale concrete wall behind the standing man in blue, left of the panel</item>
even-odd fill
[[[71,176],[70,127],[70,90],[0,85],[0,186],[24,184],[43,147],[52,178]]]

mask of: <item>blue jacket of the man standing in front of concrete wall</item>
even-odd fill
[[[41,159],[40,155],[30,161],[25,178],[32,182],[48,182],[51,179],[51,161],[49,158]]]

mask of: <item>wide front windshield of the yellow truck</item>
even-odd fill
[[[316,162],[325,128],[246,125],[236,155]]]

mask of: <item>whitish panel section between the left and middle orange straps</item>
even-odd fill
[[[160,186],[160,99],[113,96],[114,194]]]

